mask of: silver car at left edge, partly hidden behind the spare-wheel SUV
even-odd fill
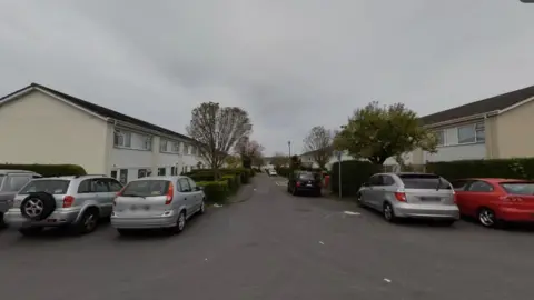
[[[31,179],[41,176],[23,170],[0,170],[0,228],[6,227],[3,214],[12,206],[17,192]]]

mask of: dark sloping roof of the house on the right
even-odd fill
[[[433,124],[491,111],[498,111],[532,97],[534,97],[534,86],[428,114],[422,117],[421,120],[424,124]]]

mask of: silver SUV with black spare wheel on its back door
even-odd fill
[[[89,233],[99,218],[111,216],[115,196],[121,189],[119,181],[107,176],[34,179],[17,193],[3,219],[24,236],[61,226]]]

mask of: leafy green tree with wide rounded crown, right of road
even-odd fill
[[[417,114],[403,103],[380,107],[370,102],[357,109],[334,139],[336,149],[375,164],[417,148],[436,152],[436,136],[423,128]]]

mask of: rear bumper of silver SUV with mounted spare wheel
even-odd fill
[[[47,219],[32,221],[20,213],[19,209],[10,209],[3,214],[3,221],[13,228],[21,227],[60,227],[76,221],[79,210],[55,211]]]

